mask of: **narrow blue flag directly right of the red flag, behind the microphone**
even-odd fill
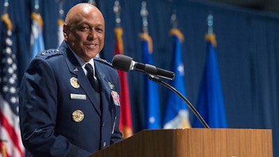
[[[153,57],[151,54],[151,38],[147,33],[142,34],[142,50],[143,50],[143,61],[153,65]],[[149,80],[148,76],[144,77],[146,84],[145,98],[146,98],[146,128],[157,129],[160,126],[160,103],[158,96],[158,84]]]

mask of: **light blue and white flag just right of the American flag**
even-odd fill
[[[43,20],[38,13],[31,14],[31,59],[36,57],[38,52],[45,50],[45,44],[43,40]]]

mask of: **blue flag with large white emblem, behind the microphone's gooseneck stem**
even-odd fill
[[[186,88],[184,84],[184,65],[181,55],[181,42],[183,35],[179,29],[172,29],[172,40],[174,44],[174,80],[170,85],[186,97]],[[188,106],[173,91],[169,91],[167,108],[163,128],[190,128]]]

